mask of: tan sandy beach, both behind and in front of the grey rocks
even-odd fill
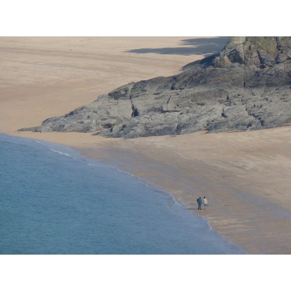
[[[174,194],[249,254],[291,254],[291,127],[130,140],[16,132],[131,81],[170,76],[226,38],[1,37],[0,132],[78,149]],[[197,210],[207,196],[209,208]]]

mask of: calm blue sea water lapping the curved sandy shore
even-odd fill
[[[245,254],[174,197],[69,147],[0,133],[0,254]]]

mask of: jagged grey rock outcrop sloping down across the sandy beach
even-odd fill
[[[19,130],[135,138],[291,122],[291,37],[234,37],[218,55],[182,70],[129,83],[65,116]]]

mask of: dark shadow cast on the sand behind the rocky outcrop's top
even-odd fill
[[[190,38],[181,40],[181,47],[160,48],[160,49],[130,49],[125,52],[132,53],[158,53],[158,54],[177,54],[177,55],[212,55],[219,53],[230,36],[220,36],[211,38]],[[188,47],[182,47],[188,46]]]

